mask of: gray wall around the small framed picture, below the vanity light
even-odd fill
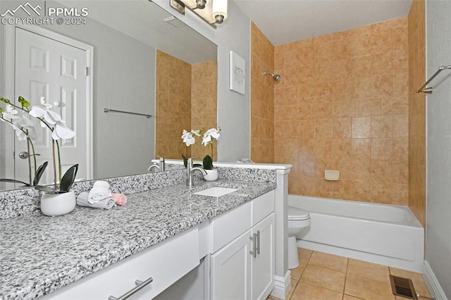
[[[218,140],[218,161],[236,161],[250,157],[250,20],[233,1],[228,1],[229,18],[216,30],[193,17],[190,11],[185,16],[169,6],[169,1],[154,0],[156,4],[173,13],[187,25],[197,30],[218,45],[218,126],[222,128]],[[246,94],[228,89],[229,51],[245,58]]]

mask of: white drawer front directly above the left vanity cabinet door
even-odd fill
[[[218,215],[210,221],[210,253],[221,249],[251,227],[251,202]]]

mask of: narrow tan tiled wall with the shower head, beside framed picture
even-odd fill
[[[274,158],[274,86],[266,70],[274,71],[274,46],[259,28],[251,25],[251,159],[273,163]]]

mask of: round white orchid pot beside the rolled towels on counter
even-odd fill
[[[42,193],[41,211],[44,215],[66,215],[75,208],[77,201],[73,191],[62,194]]]

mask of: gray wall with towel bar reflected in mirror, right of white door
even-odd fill
[[[154,158],[154,118],[103,109],[154,114],[155,49],[89,18],[86,25],[45,27],[94,46],[94,178],[146,173]]]

